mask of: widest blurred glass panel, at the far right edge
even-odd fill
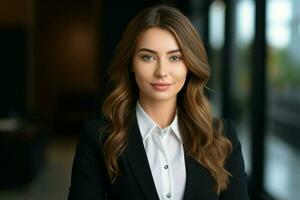
[[[300,1],[267,1],[265,188],[275,199],[300,196]]]

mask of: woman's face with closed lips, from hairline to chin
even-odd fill
[[[176,101],[188,69],[172,33],[156,27],[143,32],[132,63],[141,101]]]

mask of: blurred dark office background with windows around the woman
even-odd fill
[[[235,123],[251,199],[299,198],[299,0],[1,0],[1,200],[67,198],[116,42],[155,3],[179,8],[202,36],[214,115]]]

